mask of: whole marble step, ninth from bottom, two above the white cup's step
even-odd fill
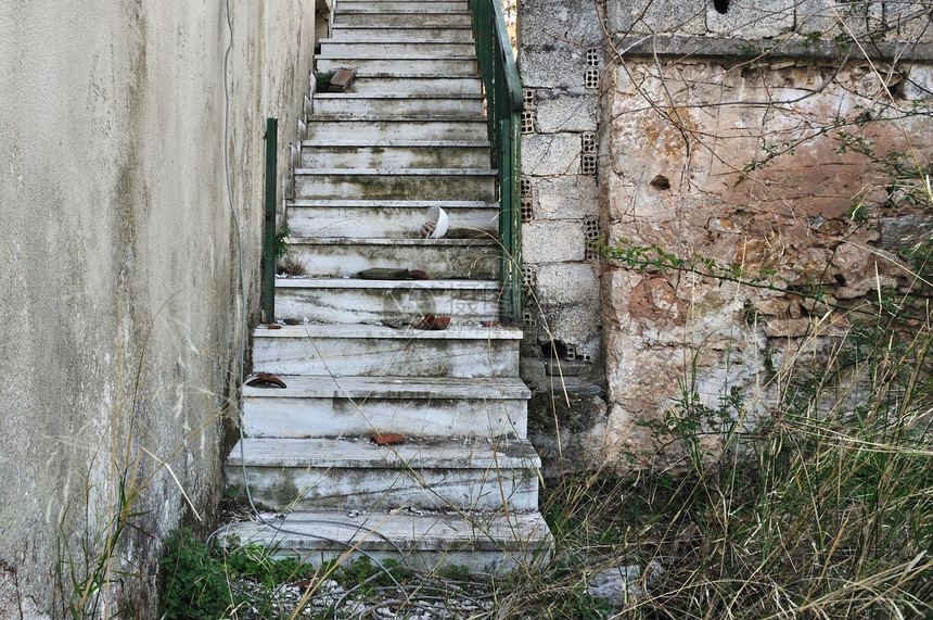
[[[305,140],[302,143],[305,168],[488,168],[489,157],[489,142]]]

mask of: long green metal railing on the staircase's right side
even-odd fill
[[[470,0],[473,34],[489,118],[493,165],[499,170],[499,242],[502,299],[500,316],[515,324],[522,316],[522,219],[519,176],[522,170],[520,123],[522,78],[515,66],[500,0]]]

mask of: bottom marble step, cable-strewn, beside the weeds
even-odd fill
[[[220,544],[260,544],[277,557],[315,567],[334,559],[346,564],[366,554],[373,564],[393,559],[424,571],[467,567],[486,574],[546,562],[553,547],[539,513],[291,513],[274,521],[276,514],[264,517],[266,523],[231,523],[218,539]]]

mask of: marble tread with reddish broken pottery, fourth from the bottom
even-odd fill
[[[445,330],[394,329],[383,325],[366,324],[320,324],[285,325],[280,329],[259,326],[253,330],[253,338],[271,339],[383,339],[383,340],[522,340],[517,327],[451,324]]]

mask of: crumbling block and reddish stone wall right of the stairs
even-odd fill
[[[587,378],[588,389],[577,385],[584,402],[562,405],[536,382],[540,444],[553,441],[557,419],[565,442],[586,446],[573,458],[674,466],[644,422],[662,419],[682,385],[711,406],[737,387],[762,410],[769,369],[803,343],[831,345],[852,318],[801,295],[623,261],[585,271],[588,237],[734,263],[749,278],[774,273],[782,286],[819,282],[830,304],[846,307],[879,281],[908,284],[898,251],[929,229],[922,205],[891,190],[884,164],[841,144],[854,137],[881,157],[908,150],[885,121],[894,112],[884,80],[929,162],[929,11],[910,1],[732,0],[725,13],[707,0],[521,3],[520,69],[533,109],[524,260],[537,324],[551,327],[536,338],[599,345],[589,366],[570,365]],[[873,121],[859,124],[869,107]],[[840,122],[848,138],[819,131]],[[598,329],[583,336],[575,322]],[[535,352],[525,353],[526,375],[540,378]]]

